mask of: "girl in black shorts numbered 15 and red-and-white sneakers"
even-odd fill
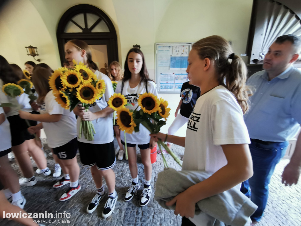
[[[59,188],[69,184],[70,188],[64,193],[60,201],[66,201],[73,197],[81,186],[78,183],[79,165],[77,164],[77,140],[76,140],[76,118],[73,112],[61,107],[55,100],[54,94],[49,86],[51,73],[42,67],[35,68],[32,81],[39,95],[37,102],[40,104],[40,115],[19,111],[23,119],[39,121],[36,126],[29,127],[29,132],[35,133],[44,128],[47,136],[48,146],[59,158],[64,177],[54,184]]]

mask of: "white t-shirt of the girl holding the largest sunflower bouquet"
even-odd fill
[[[95,71],[94,74],[97,76],[97,79],[104,80],[106,84],[106,91],[99,100],[96,100],[96,102],[90,105],[89,110],[93,113],[106,108],[108,106],[107,102],[109,101],[109,98],[114,94],[114,90],[110,78],[99,71]],[[96,134],[94,134],[94,140],[92,141],[88,141],[87,139],[85,139],[83,133],[82,133],[82,137],[80,139],[78,138],[80,122],[81,119],[80,117],[78,117],[77,118],[77,140],[78,141],[83,143],[90,143],[90,144],[107,144],[114,140],[113,113],[106,117],[98,118],[92,121],[96,132]]]

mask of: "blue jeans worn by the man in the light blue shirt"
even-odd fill
[[[251,141],[249,148],[253,160],[253,176],[242,183],[240,191],[251,197],[258,208],[251,216],[252,220],[260,221],[268,201],[268,184],[275,166],[284,156],[288,141],[261,144]]]

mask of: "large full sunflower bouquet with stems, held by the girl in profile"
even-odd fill
[[[102,97],[105,92],[104,80],[98,80],[96,75],[82,63],[73,62],[73,68],[61,67],[49,78],[49,85],[55,100],[65,109],[72,111],[78,104],[88,111],[91,104]],[[82,121],[79,128],[79,138],[94,140],[95,129],[91,121]]]

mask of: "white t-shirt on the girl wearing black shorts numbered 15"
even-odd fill
[[[52,91],[46,94],[44,103],[40,108],[40,114],[62,115],[62,118],[55,123],[43,123],[43,128],[47,136],[50,148],[61,147],[70,140],[76,138],[76,118],[75,114],[61,107],[55,101]]]

